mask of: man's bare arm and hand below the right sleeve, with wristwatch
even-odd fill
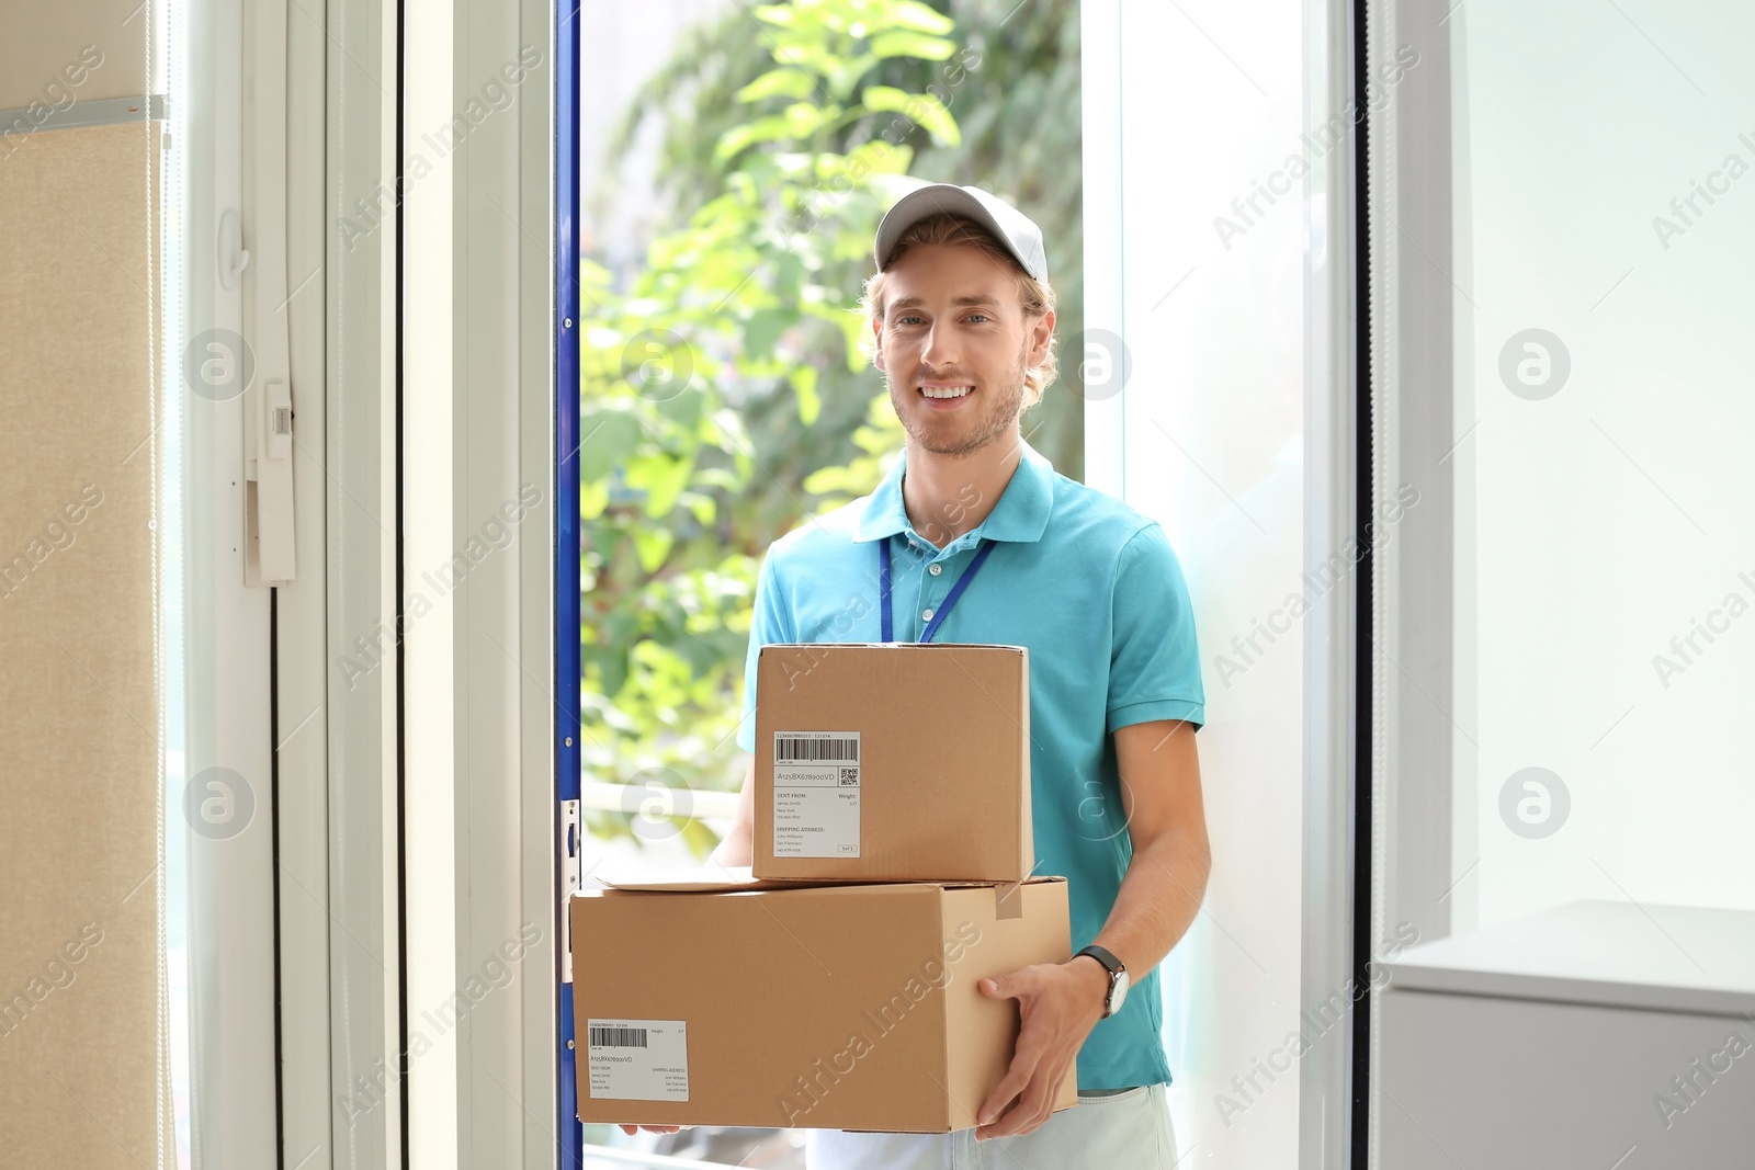
[[[1137,981],[1193,923],[1213,854],[1193,728],[1181,719],[1135,723],[1116,728],[1114,749],[1134,860],[1097,942]],[[1109,972],[1090,956],[1076,956],[983,979],[981,991],[1016,998],[1021,1024],[1011,1068],[981,1103],[976,1137],[1028,1133],[1053,1114],[1055,1089],[1072,1075],[1085,1037],[1102,1017]],[[1007,1103],[1011,1110],[1000,1116]]]

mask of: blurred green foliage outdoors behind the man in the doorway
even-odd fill
[[[602,174],[658,119],[662,221],[681,226],[632,272],[581,263],[584,779],[741,784],[760,556],[869,493],[902,446],[858,312],[902,175],[1025,207],[1048,233],[1062,346],[1078,332],[1078,5],[1007,7],[734,5],[681,35],[621,119]],[[1083,472],[1076,365],[1064,351],[1062,382],[1025,417],[1069,475]],[[588,823],[620,835],[630,821]],[[677,823],[711,849],[698,823]]]

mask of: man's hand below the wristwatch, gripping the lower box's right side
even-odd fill
[[[976,1140],[1028,1133],[1053,1116],[1060,1082],[1072,1075],[1085,1037],[1102,1019],[1109,972],[1090,956],[1074,956],[983,979],[979,986],[990,1000],[1018,1000],[1020,1024],[1011,1068],[976,1114]]]

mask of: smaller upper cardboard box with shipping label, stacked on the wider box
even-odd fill
[[[755,784],[756,877],[1023,881],[1028,651],[763,646]]]

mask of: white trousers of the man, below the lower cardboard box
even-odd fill
[[[1172,1170],[1167,1084],[1146,1084],[1113,1096],[1079,1096],[1032,1133],[976,1140],[955,1133],[844,1133],[809,1130],[809,1170]]]

